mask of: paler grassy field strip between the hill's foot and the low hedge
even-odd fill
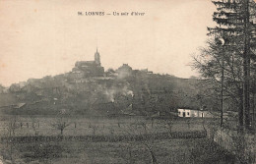
[[[10,124],[15,124],[15,137],[34,136],[35,131],[39,136],[58,136],[60,131],[52,126],[66,123],[64,136],[87,135],[126,135],[127,133],[165,133],[165,132],[190,132],[203,131],[202,119],[146,119],[144,117],[5,117],[0,122],[0,133],[7,136],[10,132]]]

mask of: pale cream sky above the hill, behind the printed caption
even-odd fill
[[[78,16],[78,12],[105,16]],[[191,54],[214,26],[210,0],[0,0],[0,83],[67,73],[76,61],[180,78],[196,76]],[[144,16],[112,16],[140,12]]]

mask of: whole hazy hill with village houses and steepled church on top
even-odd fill
[[[68,109],[87,115],[166,115],[185,107],[200,109],[207,104],[200,96],[201,81],[133,70],[128,64],[118,69],[101,66],[96,49],[94,61],[78,61],[71,72],[30,79],[2,89],[1,110],[17,114],[54,114]]]

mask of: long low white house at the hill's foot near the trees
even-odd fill
[[[178,117],[206,117],[213,118],[213,114],[205,110],[178,109]]]

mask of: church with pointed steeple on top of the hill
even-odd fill
[[[88,77],[103,77],[104,68],[101,67],[100,55],[95,53],[95,61],[78,61],[75,67],[72,69],[72,74],[76,75],[76,78],[83,79]]]

